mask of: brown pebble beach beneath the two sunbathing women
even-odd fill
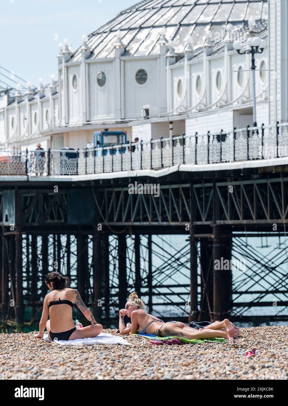
[[[34,339],[34,333],[0,334],[1,379],[288,379],[288,326],[240,328],[232,345],[156,346],[144,337],[124,335],[133,347],[59,346]],[[246,358],[252,348],[256,356]]]

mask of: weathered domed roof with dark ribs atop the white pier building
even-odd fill
[[[268,19],[267,0],[146,0],[122,11],[114,19],[88,36],[91,59],[114,57],[120,38],[125,56],[159,54],[158,40],[173,41],[176,53],[182,53],[191,35],[194,48],[203,43],[205,29],[217,37],[231,23],[234,30],[247,25],[249,17]],[[116,35],[117,34],[117,35]],[[80,60],[80,48],[72,60]]]

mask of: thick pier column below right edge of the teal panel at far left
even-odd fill
[[[16,276],[16,333],[23,331],[24,302],[23,302],[23,267],[22,267],[22,234],[21,229],[16,227],[15,235],[15,276]]]

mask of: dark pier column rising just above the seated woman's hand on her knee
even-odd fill
[[[95,232],[93,234],[93,316],[97,322],[102,315],[101,282],[101,239],[99,232]]]

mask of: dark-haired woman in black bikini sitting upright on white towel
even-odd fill
[[[62,276],[59,272],[50,272],[45,275],[45,283],[51,292],[44,298],[39,333],[34,337],[43,338],[45,326],[51,341],[96,337],[102,333],[103,327],[101,324],[97,324],[92,313],[82,302],[80,294],[76,289],[68,287],[69,278]],[[72,317],[74,301],[86,319],[91,322],[91,326],[76,330]],[[48,316],[50,316],[50,320],[47,321]]]

